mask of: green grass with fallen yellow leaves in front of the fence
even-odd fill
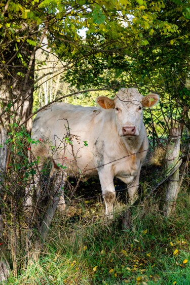
[[[70,217],[57,213],[40,259],[6,284],[190,284],[187,194],[179,194],[168,220],[156,204],[138,207],[130,230],[122,228],[120,219],[97,218],[101,206],[85,205],[77,215],[78,210]]]

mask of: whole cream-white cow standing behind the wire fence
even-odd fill
[[[116,193],[113,178],[128,184],[131,203],[137,198],[142,161],[148,149],[143,124],[143,107],[159,101],[157,94],[143,97],[137,89],[121,89],[114,99],[98,97],[100,107],[55,103],[39,112],[34,119],[32,144],[34,156],[41,161],[52,157],[51,175],[60,169],[64,176],[82,173],[99,176],[106,215],[111,215]],[[87,145],[88,144],[88,145]],[[53,151],[52,151],[53,146]],[[64,209],[64,197],[59,201]]]

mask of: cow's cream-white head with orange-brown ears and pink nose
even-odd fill
[[[159,95],[149,94],[143,97],[136,88],[121,89],[114,99],[98,97],[97,103],[104,109],[115,109],[119,136],[135,138],[143,126],[143,107],[153,107],[159,101]]]

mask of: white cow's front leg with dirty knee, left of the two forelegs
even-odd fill
[[[116,192],[113,184],[113,176],[103,172],[99,172],[99,179],[102,188],[102,195],[105,202],[105,215],[112,218],[113,203],[116,200]]]

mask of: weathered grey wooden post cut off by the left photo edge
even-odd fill
[[[0,127],[0,282],[7,280],[9,276],[9,266],[5,260],[4,251],[5,245],[3,243],[3,216],[2,216],[2,201],[3,201],[3,187],[4,176],[7,164],[7,130]]]

